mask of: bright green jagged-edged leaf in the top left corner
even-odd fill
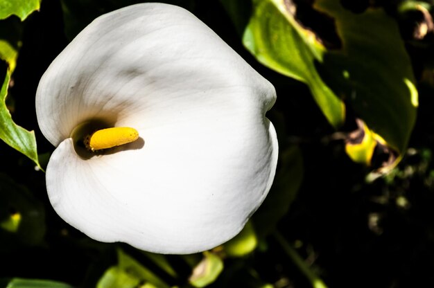
[[[17,15],[24,21],[35,10],[40,9],[41,0],[0,0],[0,19]]]

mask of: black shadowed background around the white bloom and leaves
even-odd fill
[[[125,2],[107,1],[103,5],[105,9],[98,10],[101,1],[93,2],[94,10],[89,8],[83,12],[78,27],[111,8],[125,6]],[[275,85],[278,98],[269,118],[274,121],[277,113],[284,115],[286,135],[279,137],[290,136],[300,145],[305,169],[297,198],[278,228],[311,263],[312,269],[329,287],[397,288],[433,283],[433,86],[418,77],[421,80],[419,111],[409,145],[413,152],[399,165],[401,174],[367,182],[370,170],[347,158],[342,141],[330,140],[334,131],[309,89],[259,64],[243,48],[240,35],[220,1],[176,2],[189,8]],[[380,2],[376,5],[386,8],[392,5]],[[363,11],[365,2],[354,1],[354,7],[346,5]],[[77,9],[80,11],[80,7]],[[23,45],[10,89],[15,103],[12,117],[26,129],[35,130],[40,154],[52,152],[54,147],[37,127],[35,92],[46,68],[68,43],[62,15],[59,0],[43,0],[40,12],[33,13],[24,22]],[[406,35],[403,37],[406,39]],[[422,75],[424,58],[421,57],[426,55],[421,50],[426,52],[432,48],[430,42],[424,44],[422,48],[408,44],[417,76]],[[347,127],[350,129],[353,125],[349,123]],[[46,197],[44,174],[35,171],[31,161],[2,142],[0,152],[0,172],[30,190],[35,201],[44,207],[46,223],[40,244],[3,244],[7,249],[0,252],[0,278],[46,278],[77,287],[94,287],[105,269],[116,263],[114,245],[89,240],[64,223]],[[407,205],[399,204],[402,197]],[[121,246],[146,267],[166,277],[143,255],[127,245]],[[272,237],[268,237],[265,246],[241,262],[227,260],[225,276],[213,287],[252,287],[240,280],[250,268],[255,269],[263,281],[276,283],[276,287],[310,287]],[[168,256],[168,260],[177,268],[180,278],[166,280],[173,285],[186,283],[189,267],[175,255]]]

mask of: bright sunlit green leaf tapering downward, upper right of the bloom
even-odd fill
[[[306,83],[329,123],[342,125],[345,105],[315,68],[323,62],[326,48],[295,21],[290,1],[252,2],[253,15],[243,35],[245,47],[270,69]]]

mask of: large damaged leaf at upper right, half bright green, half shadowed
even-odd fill
[[[367,129],[397,152],[383,170],[394,167],[408,145],[418,105],[412,66],[396,21],[380,8],[354,14],[339,0],[315,1],[314,8],[335,21],[342,48],[333,50],[296,21],[292,1],[252,1],[245,46],[259,62],[308,84],[334,127],[345,118],[336,96],[344,99]],[[370,162],[370,142],[350,147],[357,150],[347,150],[351,158]]]

